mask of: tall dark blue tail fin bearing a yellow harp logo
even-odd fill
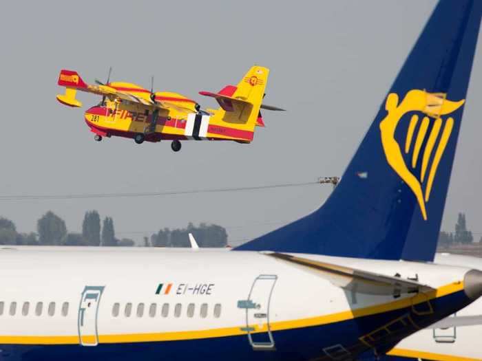
[[[236,250],[431,261],[481,13],[441,0],[326,203]]]

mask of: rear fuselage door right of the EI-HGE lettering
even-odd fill
[[[246,309],[246,327],[249,343],[254,350],[274,350],[275,341],[269,324],[269,305],[277,276],[261,274],[256,277],[247,300],[238,301]]]

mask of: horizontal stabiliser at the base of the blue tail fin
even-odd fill
[[[292,256],[291,254],[273,252],[266,253],[266,255],[280,261],[288,262],[291,265],[302,267],[304,270],[322,276],[334,285],[350,290],[351,292],[392,295],[397,297],[401,294],[434,291],[434,288],[428,285],[397,276],[386,276],[384,274],[356,270],[355,268],[314,261],[303,257]]]

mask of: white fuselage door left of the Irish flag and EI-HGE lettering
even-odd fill
[[[78,342],[82,346],[97,346],[98,305],[104,286],[85,286],[78,306]]]

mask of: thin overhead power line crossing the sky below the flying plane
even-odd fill
[[[300,186],[311,186],[320,184],[317,182],[300,182],[300,183],[284,183],[271,184],[263,186],[249,187],[233,187],[233,188],[206,188],[198,190],[171,190],[166,192],[145,192],[145,193],[72,193],[64,195],[0,195],[0,201],[47,201],[47,200],[65,200],[65,199],[94,199],[94,198],[133,198],[133,197],[165,197],[171,195],[193,195],[199,193],[222,193],[222,192],[240,192],[247,190],[262,190],[272,188],[289,188]]]

